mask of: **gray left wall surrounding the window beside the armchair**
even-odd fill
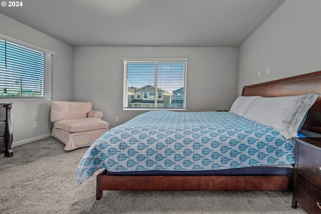
[[[72,46],[1,13],[0,26],[0,33],[2,34],[56,52],[56,55],[53,56],[53,100],[71,100]],[[1,99],[0,102],[13,102],[11,110],[14,133],[13,146],[50,136],[52,123],[49,117],[52,100]],[[33,128],[33,121],[38,121],[37,128]]]

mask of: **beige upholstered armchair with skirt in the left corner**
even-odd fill
[[[108,131],[101,111],[92,110],[91,102],[53,101],[50,120],[54,123],[51,136],[62,141],[65,150],[90,146]]]

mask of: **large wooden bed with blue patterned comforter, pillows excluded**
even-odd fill
[[[244,86],[242,96],[314,94],[300,132],[319,136],[320,86],[316,71]],[[77,168],[77,185],[104,168],[97,175],[96,199],[103,190],[290,190],[293,163],[291,136],[234,112],[149,111],[89,147]]]

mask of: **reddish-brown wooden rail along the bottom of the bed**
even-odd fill
[[[103,190],[290,190],[293,175],[97,175],[96,199]],[[271,185],[271,183],[273,185]]]

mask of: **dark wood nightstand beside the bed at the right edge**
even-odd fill
[[[292,207],[299,203],[308,213],[321,213],[321,137],[295,140]]]

